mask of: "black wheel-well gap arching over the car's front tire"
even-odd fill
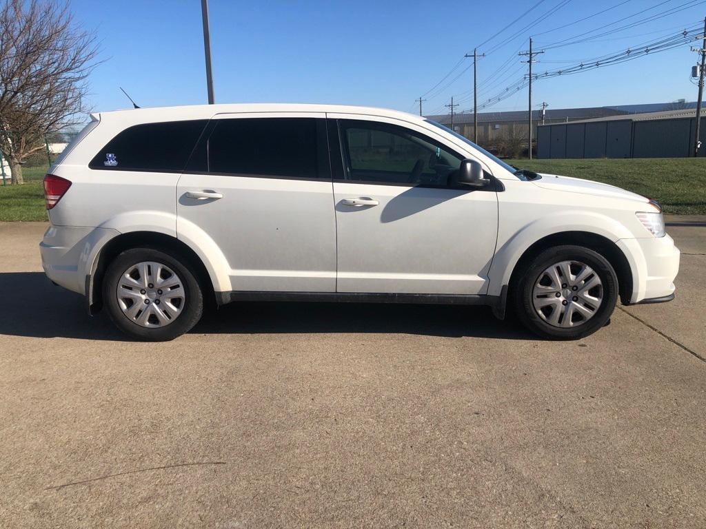
[[[535,241],[522,253],[515,262],[513,271],[508,281],[509,290],[512,291],[517,280],[522,275],[525,265],[544,250],[559,245],[583,246],[594,250],[608,260],[618,276],[618,295],[622,303],[628,303],[633,293],[633,271],[628,258],[618,245],[609,238],[590,231],[561,231],[551,233]]]

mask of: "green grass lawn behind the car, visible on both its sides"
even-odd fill
[[[657,200],[669,214],[706,214],[706,158],[511,160],[539,173],[605,182]],[[0,221],[45,221],[46,167],[25,167],[22,186],[0,185]]]

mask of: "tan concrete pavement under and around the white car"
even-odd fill
[[[484,308],[252,303],[135,343],[0,224],[0,526],[706,526],[706,219],[578,342]],[[700,357],[700,358],[698,358]]]

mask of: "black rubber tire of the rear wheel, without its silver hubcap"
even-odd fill
[[[188,261],[179,255],[167,253],[168,250],[158,248],[132,248],[120,253],[108,265],[103,278],[103,303],[113,323],[122,332],[143,341],[168,341],[189,332],[203,312],[203,293],[196,277],[189,272]],[[167,265],[181,278],[186,296],[185,306],[174,322],[164,327],[142,327],[131,322],[123,314],[116,298],[116,289],[121,274],[138,262],[153,261]]]

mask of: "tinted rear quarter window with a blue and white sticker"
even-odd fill
[[[90,162],[91,169],[179,172],[207,120],[145,123],[126,128]]]

